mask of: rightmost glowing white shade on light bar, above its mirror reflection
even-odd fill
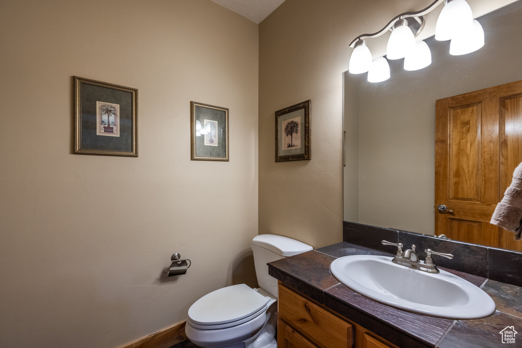
[[[451,40],[471,30],[473,14],[466,0],[453,0],[444,5],[435,26],[435,40]]]

